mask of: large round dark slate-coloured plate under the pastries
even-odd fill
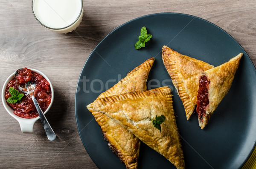
[[[145,48],[136,50],[134,44],[143,26],[152,38]],[[164,45],[214,66],[241,52],[244,54],[230,91],[203,130],[198,126],[196,115],[186,120],[183,104],[163,65],[161,49]],[[186,169],[239,169],[243,166],[256,140],[256,70],[253,63],[239,43],[218,26],[177,13],[150,14],[119,26],[96,46],[84,64],[76,91],[76,122],[84,147],[94,163],[100,169],[125,169],[108,148],[86,105],[150,57],[155,58],[155,63],[148,76],[148,89],[160,86],[172,89]],[[138,163],[139,169],[175,169],[169,160],[144,143]]]

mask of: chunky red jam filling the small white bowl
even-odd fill
[[[11,94],[9,93],[10,87],[13,87],[14,89],[17,89],[20,93],[23,93],[20,91],[18,86],[22,86],[29,81],[35,82],[36,87],[34,91],[34,96],[42,111],[44,112],[51,103],[52,98],[52,92],[49,82],[40,74],[32,72],[30,69],[27,68],[19,69],[17,72],[18,74],[15,75],[15,79],[10,81],[6,86],[5,99],[7,100],[9,97],[11,97]],[[23,94],[24,96],[20,101],[17,101],[16,103],[8,103],[8,105],[11,106],[12,109],[14,109],[13,113],[19,117],[37,117],[38,112],[35,109],[35,105],[31,97],[28,94]]]

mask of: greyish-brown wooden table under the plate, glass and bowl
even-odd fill
[[[86,0],[80,26],[68,34],[41,26],[32,14],[30,0],[2,0],[0,84],[22,67],[44,72],[55,90],[46,117],[57,138],[47,140],[40,120],[34,134],[23,134],[0,103],[1,168],[96,169],[76,127],[74,100],[81,69],[90,52],[113,29],[159,12],[191,14],[216,24],[240,43],[256,65],[255,0]]]

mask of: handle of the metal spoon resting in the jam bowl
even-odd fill
[[[33,100],[33,102],[34,102],[34,104],[35,104],[36,110],[38,111],[38,114],[39,114],[39,117],[40,117],[40,119],[41,119],[41,122],[43,123],[44,130],[45,130],[45,132],[46,132],[46,135],[47,135],[48,139],[49,139],[50,141],[55,140],[56,135],[55,135],[55,133],[53,132],[52,127],[50,126],[50,124],[49,124],[49,122],[47,121],[46,117],[44,116],[44,113],[43,113],[42,109],[40,108],[40,106],[38,105],[37,101],[35,100],[34,95],[31,95],[31,98],[32,98],[32,100]]]

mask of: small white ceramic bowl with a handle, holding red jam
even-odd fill
[[[28,68],[29,69],[29,68]],[[50,88],[51,88],[51,91],[52,91],[52,100],[51,100],[51,103],[49,104],[48,108],[46,109],[46,111],[44,112],[44,114],[46,114],[49,109],[51,108],[52,106],[52,103],[53,103],[53,99],[54,99],[54,91],[53,91],[53,87],[52,87],[52,83],[50,82],[50,80],[48,79],[48,77],[43,74],[42,72],[36,70],[36,69],[31,69],[33,72],[36,72],[38,74],[41,74],[48,82],[49,82],[49,85],[50,85]],[[12,107],[10,107],[7,102],[6,102],[6,99],[4,97],[4,92],[5,92],[5,89],[6,89],[6,86],[7,84],[12,80],[14,79],[14,75],[15,75],[15,72],[12,73],[6,80],[6,82],[4,83],[3,85],[3,89],[2,89],[2,102],[3,102],[3,106],[4,108],[6,109],[6,111],[13,117],[15,118],[19,123],[20,123],[20,129],[23,133],[33,133],[33,126],[34,126],[34,123],[36,122],[36,120],[38,120],[40,117],[35,117],[35,118],[22,118],[22,117],[19,117],[15,114],[13,114],[13,109]]]

